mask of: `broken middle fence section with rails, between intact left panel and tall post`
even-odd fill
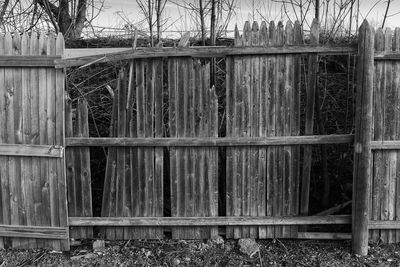
[[[312,34],[315,45],[316,21]],[[349,238],[299,231],[304,224],[350,223],[350,215],[307,216],[311,165],[304,162],[300,174],[299,145],[352,143],[352,135],[313,136],[312,123],[315,52],[353,51],[304,45],[298,23],[247,22],[242,35],[236,31],[232,48],[146,48],[57,61],[57,67],[129,62],[114,90],[111,136],[66,139],[70,147],[108,147],[102,217],[73,216],[70,226],[106,226],[107,239],[155,239],[165,232],[203,239],[221,230],[227,238]],[[303,103],[308,136],[300,136],[304,55],[312,84]],[[209,75],[210,58],[221,56],[223,100]],[[225,136],[219,135],[219,101],[225,103]],[[218,147],[226,147],[224,162]],[[304,151],[311,160],[312,147]],[[218,212],[221,205],[225,210]]]

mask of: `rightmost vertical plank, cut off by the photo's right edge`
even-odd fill
[[[400,51],[400,28],[396,28],[394,31],[393,37],[393,50],[398,52]],[[396,106],[395,106],[395,136],[396,140],[400,139],[400,92],[398,88],[400,88],[400,62],[396,61],[393,63],[393,87],[396,92]],[[400,177],[400,151],[396,152],[397,162],[396,162],[396,177]],[[394,219],[400,220],[400,179],[395,180],[395,214]],[[400,242],[400,230],[395,231],[395,242]]]

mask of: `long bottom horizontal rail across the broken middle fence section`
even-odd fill
[[[70,217],[70,226],[263,226],[350,224],[351,215],[242,217]]]

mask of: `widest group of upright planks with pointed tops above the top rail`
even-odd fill
[[[246,23],[235,46],[299,44],[299,25]],[[300,133],[299,59],[296,55],[227,59],[227,136],[295,136]],[[299,149],[292,146],[227,148],[227,215],[298,214]],[[228,227],[227,237],[297,237],[290,226]]]

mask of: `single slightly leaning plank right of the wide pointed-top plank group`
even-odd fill
[[[318,45],[319,43],[319,25],[318,20],[314,19],[311,25],[310,43]],[[317,66],[318,56],[310,55],[308,57],[308,77],[307,77],[307,103],[306,103],[306,121],[305,121],[305,135],[312,135],[314,128],[314,104],[315,104],[315,90],[317,82]],[[310,196],[310,173],[311,173],[311,157],[312,147],[304,146],[303,157],[303,176],[301,183],[301,200],[300,200],[300,214],[308,215],[309,210],[309,196]]]

